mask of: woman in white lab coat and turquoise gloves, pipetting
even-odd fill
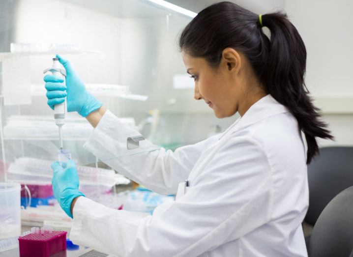
[[[236,112],[240,118],[224,133],[175,152],[126,154],[127,137],[140,134],[86,91],[66,59],[58,56],[66,86],[45,76],[49,106],[67,96],[68,111],[95,128],[85,143],[89,151],[157,193],[176,194],[153,215],[136,216],[89,200],[79,192],[75,164],[54,163],[55,197],[73,217],[70,238],[117,256],[307,256],[306,165],[319,151],[316,138],[332,136],[304,85],[306,50],[298,31],[283,13],[259,16],[219,2],[186,26],[179,46],[195,99],[218,118]],[[144,140],[141,147],[154,145]]]

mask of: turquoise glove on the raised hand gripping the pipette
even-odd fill
[[[86,117],[91,112],[98,110],[102,103],[95,99],[85,88],[70,62],[59,55],[59,62],[66,70],[66,86],[62,79],[53,75],[45,75],[45,88],[47,89],[48,105],[54,110],[54,106],[65,101],[67,95],[67,111],[78,112]],[[66,90],[66,92],[65,92]]]

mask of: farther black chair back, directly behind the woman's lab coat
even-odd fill
[[[353,186],[353,147],[324,147],[308,166],[309,208],[304,221],[315,225],[324,207]]]

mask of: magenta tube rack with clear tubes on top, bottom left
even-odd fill
[[[66,234],[50,227],[31,228],[18,238],[20,257],[66,257]]]

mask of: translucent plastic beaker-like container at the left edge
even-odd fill
[[[0,240],[21,234],[21,185],[0,182]]]

